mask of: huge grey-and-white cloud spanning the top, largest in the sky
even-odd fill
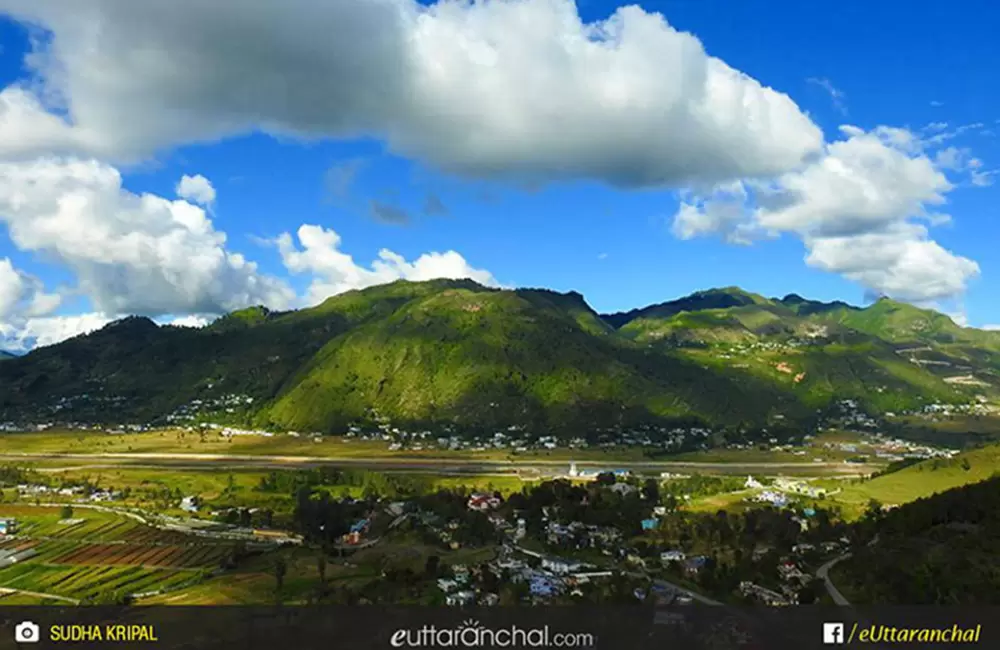
[[[20,119],[37,126],[0,123],[11,136],[0,154],[142,157],[255,130],[372,135],[463,175],[668,186],[781,173],[822,146],[787,95],[637,6],[591,23],[572,0],[0,0],[4,10],[50,30],[30,63],[68,118],[22,91]]]

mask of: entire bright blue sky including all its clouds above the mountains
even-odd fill
[[[892,3],[644,2],[641,13],[621,14],[617,41],[606,30],[605,49],[589,63],[582,45],[560,49],[579,31],[567,16],[578,11],[577,26],[587,29],[617,3],[424,3],[421,18],[410,0],[349,0],[317,16],[296,0],[280,20],[264,15],[271,9],[259,24],[251,15],[245,33],[225,20],[236,2],[195,17],[168,15],[167,3],[118,13],[110,0],[87,4],[66,12],[54,0],[0,0],[0,260],[13,287],[6,305],[0,288],[0,332],[11,347],[124,312],[198,322],[241,302],[300,306],[428,273],[576,290],[600,311],[739,285],[853,303],[884,292],[973,326],[1000,323],[994,3],[955,11],[916,2],[900,11]],[[389,36],[366,41],[334,27],[324,38],[312,28],[323,20],[354,32],[383,21]],[[123,36],[83,56],[87,30],[78,25],[88,21]],[[520,34],[522,24],[532,27]],[[423,29],[413,32],[422,49],[400,56],[419,65],[378,67],[398,54],[394,30],[408,29]],[[228,39],[235,54],[200,44],[184,52],[188,36]],[[466,46],[452,47],[456,39]],[[744,93],[750,108],[698,98],[706,65],[721,73],[683,49],[693,42],[759,82],[747,90],[749,82],[709,75]],[[160,46],[144,54],[146,43]],[[26,63],[32,51],[45,56]],[[237,54],[263,64],[241,69]],[[166,56],[174,58],[157,58]],[[337,63],[344,60],[358,69]],[[533,70],[541,81],[518,77]],[[410,112],[393,93],[416,82],[397,74],[420,77],[427,93]],[[608,94],[587,90],[595,88]],[[780,94],[790,101],[774,99]],[[428,116],[428,107],[455,114]],[[706,111],[703,132],[688,128]],[[468,126],[455,126],[463,120]],[[214,190],[211,200],[188,197],[210,225],[167,236],[184,221],[169,216],[174,208],[146,214],[133,199],[174,201],[185,175]],[[842,178],[853,185],[842,187]],[[26,186],[37,192],[26,198]],[[59,208],[58,192],[86,196],[86,214]],[[304,224],[339,239],[310,247]],[[114,253],[102,259],[99,239],[80,242],[105,227]],[[140,239],[136,251],[126,248]],[[189,240],[190,265],[168,248]],[[412,266],[372,272],[384,249]],[[457,256],[418,262],[448,251]],[[237,254],[256,268],[228,257]]]

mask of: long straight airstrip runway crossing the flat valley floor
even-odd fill
[[[162,452],[121,452],[121,453],[5,453],[0,454],[0,462],[18,461],[84,461],[91,466],[95,462],[106,465],[133,465],[150,467],[194,468],[206,463],[220,463],[249,469],[313,468],[323,466],[357,466],[386,471],[457,471],[484,473],[514,473],[535,471],[538,473],[561,474],[568,470],[569,460],[524,459],[495,460],[476,458],[423,458],[423,457],[359,457],[359,456],[288,456],[256,454],[198,454]],[[872,468],[860,464],[840,462],[794,463],[794,462],[746,462],[719,463],[698,461],[616,461],[578,460],[578,469],[631,469],[647,471],[667,470],[715,470],[731,473],[754,473],[776,470],[815,470],[841,474],[864,474]]]

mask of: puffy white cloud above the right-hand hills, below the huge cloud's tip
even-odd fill
[[[950,219],[940,208],[954,186],[941,167],[953,154],[936,163],[905,129],[842,131],[821,157],[770,182],[688,197],[675,234],[745,242],[790,233],[805,244],[809,265],[873,292],[914,302],[961,294],[979,266],[933,241],[928,228]]]

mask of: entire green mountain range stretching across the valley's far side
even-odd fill
[[[857,400],[873,413],[1000,395],[1000,334],[883,299],[736,288],[602,316],[577,293],[396,282],[202,329],[117,321],[0,364],[0,420],[279,429],[354,423],[557,433],[760,426]]]

